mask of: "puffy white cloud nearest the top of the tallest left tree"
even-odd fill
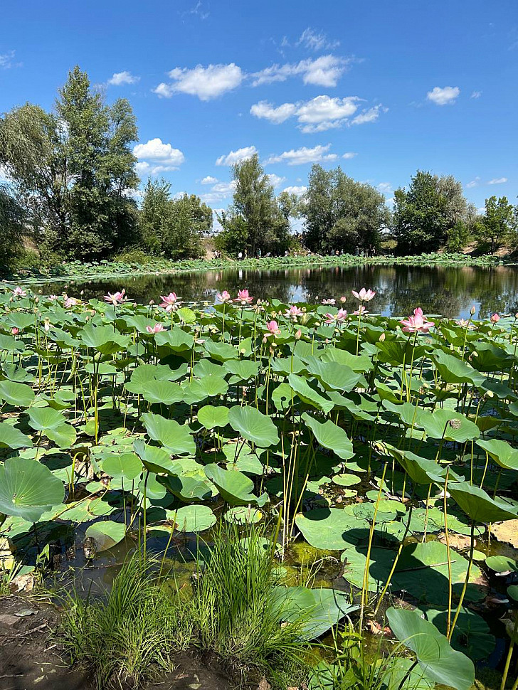
[[[175,93],[188,93],[200,100],[211,100],[232,91],[240,85],[245,75],[238,65],[196,65],[192,70],[176,67],[169,72],[171,83],[162,82],[154,93],[170,98]]]

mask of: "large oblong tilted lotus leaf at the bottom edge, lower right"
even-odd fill
[[[455,652],[448,639],[421,612],[389,608],[388,623],[396,637],[416,654],[425,676],[455,690],[470,690],[475,667],[462,652]]]

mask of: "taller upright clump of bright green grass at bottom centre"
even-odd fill
[[[221,525],[194,596],[199,644],[238,669],[263,669],[271,677],[279,669],[304,666],[303,617],[281,622],[274,595],[281,574],[275,544],[250,529],[240,538],[238,527]]]

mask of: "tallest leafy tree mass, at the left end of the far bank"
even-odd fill
[[[55,112],[26,104],[0,122],[0,163],[43,246],[102,258],[136,240],[137,126],[127,100],[111,107],[75,67]]]

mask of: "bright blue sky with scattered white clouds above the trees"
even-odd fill
[[[390,199],[417,168],[483,206],[518,194],[516,0],[3,0],[0,111],[51,108],[75,64],[127,97],[142,179],[213,208],[257,151],[277,191],[312,162]]]

